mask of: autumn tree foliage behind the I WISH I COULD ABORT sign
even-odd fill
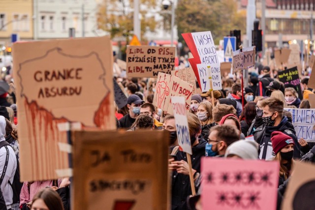
[[[230,30],[245,32],[246,16],[237,12],[235,0],[178,0],[176,10],[178,37],[181,33],[210,30],[216,44]]]

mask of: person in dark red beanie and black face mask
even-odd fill
[[[290,176],[293,164],[294,141],[292,137],[280,131],[271,134],[271,143],[275,152],[274,160],[280,163],[279,186]]]

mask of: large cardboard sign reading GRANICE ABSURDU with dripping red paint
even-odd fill
[[[14,43],[13,50],[21,180],[70,176],[64,123],[116,129],[110,38]]]

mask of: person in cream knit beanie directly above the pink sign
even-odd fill
[[[240,159],[258,159],[259,145],[251,140],[239,140],[227,147],[224,157]]]

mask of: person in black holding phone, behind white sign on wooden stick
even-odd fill
[[[188,114],[189,136],[191,142],[191,164],[193,178],[197,179],[200,174],[200,160],[205,155],[206,140],[199,139],[201,133],[201,124],[197,116]],[[178,147],[172,150],[178,150]],[[187,210],[187,197],[191,195],[189,182],[189,165],[187,163],[186,153],[178,150],[174,158],[169,159],[168,168],[173,171],[172,174],[172,210]],[[198,191],[198,189],[196,189]]]

